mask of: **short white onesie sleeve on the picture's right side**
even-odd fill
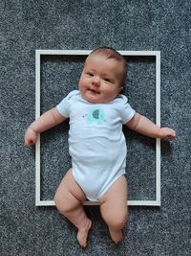
[[[121,119],[122,124],[129,122],[135,115],[136,111],[129,105],[128,99],[124,95],[120,95],[122,104],[121,104]]]

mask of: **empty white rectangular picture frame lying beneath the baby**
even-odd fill
[[[160,126],[160,52],[159,51],[118,51],[122,56],[153,56],[156,58],[156,124]],[[35,118],[40,116],[40,59],[43,55],[88,56],[89,50],[36,50],[35,51]],[[160,139],[156,139],[156,198],[154,200],[128,200],[132,206],[160,206]],[[40,135],[35,145],[35,205],[53,206],[53,200],[41,200],[40,196]],[[98,205],[85,201],[84,205]]]

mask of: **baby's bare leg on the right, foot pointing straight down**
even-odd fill
[[[121,176],[100,200],[103,220],[108,224],[110,235],[117,244],[122,240],[122,228],[127,221],[127,180]]]

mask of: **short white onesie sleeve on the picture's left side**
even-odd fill
[[[71,101],[73,101],[73,96],[76,94],[76,90],[70,92],[58,105],[56,105],[56,109],[58,112],[64,116],[64,117],[69,117],[69,110],[70,110],[70,104]]]

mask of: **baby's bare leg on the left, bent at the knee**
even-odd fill
[[[70,169],[57,188],[54,202],[60,214],[77,227],[77,240],[83,247],[87,244],[88,232],[92,226],[92,221],[88,219],[82,205],[85,199],[86,196],[74,181],[72,169]]]

